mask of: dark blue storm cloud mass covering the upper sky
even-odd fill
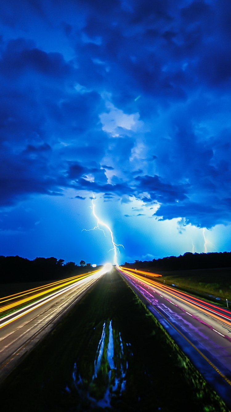
[[[3,5],[1,206],[72,188],[230,221],[227,2]]]

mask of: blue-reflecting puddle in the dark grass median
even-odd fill
[[[123,342],[121,333],[113,327],[112,320],[105,321],[95,353],[92,376],[88,380],[81,376],[79,359],[74,363],[72,385],[69,386],[74,386],[81,399],[88,400],[90,407],[110,408],[111,400],[118,400],[126,389],[127,356],[130,355],[130,344]],[[65,388],[68,393],[72,390],[69,386]]]

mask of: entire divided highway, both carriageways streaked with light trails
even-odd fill
[[[148,309],[231,407],[231,311],[116,267]],[[110,269],[72,276],[0,299],[0,381]]]

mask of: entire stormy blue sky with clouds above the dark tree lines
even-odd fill
[[[92,198],[120,264],[230,251],[230,44],[228,0],[2,0],[0,255],[111,262]]]

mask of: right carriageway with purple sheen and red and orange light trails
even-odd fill
[[[231,311],[117,266],[182,351],[231,407]]]

